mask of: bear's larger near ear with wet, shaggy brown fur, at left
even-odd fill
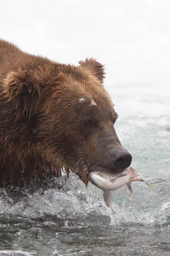
[[[16,119],[26,116],[30,119],[40,98],[40,82],[33,71],[18,70],[8,73],[4,79],[6,102],[12,102],[17,111]]]

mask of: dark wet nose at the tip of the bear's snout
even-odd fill
[[[120,149],[115,152],[113,155],[113,163],[116,169],[126,169],[127,167],[130,166],[132,161],[132,156],[131,154],[125,150],[125,149]]]

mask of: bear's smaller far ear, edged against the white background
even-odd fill
[[[96,76],[99,81],[103,83],[103,79],[105,78],[105,68],[104,65],[100,64],[96,59],[94,58],[86,58],[85,61],[79,61],[79,64],[90,70],[94,76]]]

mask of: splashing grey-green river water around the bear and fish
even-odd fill
[[[132,166],[156,186],[102,191],[71,174],[0,189],[0,256],[170,256],[169,88],[106,85],[119,114],[115,128]]]

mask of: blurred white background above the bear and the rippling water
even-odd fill
[[[2,0],[0,37],[62,63],[106,65],[106,87],[150,84],[169,92],[169,0]]]

